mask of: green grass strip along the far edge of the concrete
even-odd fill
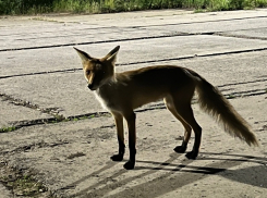
[[[179,8],[199,12],[266,7],[267,0],[0,0],[0,14],[110,13]]]

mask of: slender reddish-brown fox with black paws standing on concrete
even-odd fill
[[[191,103],[197,94],[201,109],[211,115],[231,136],[238,137],[248,146],[258,146],[250,124],[234,110],[219,89],[208,83],[193,70],[178,65],[153,65],[122,73],[116,72],[117,46],[104,58],[93,58],[74,47],[82,60],[87,87],[94,91],[101,106],[113,116],[118,153],[111,156],[112,161],[122,161],[125,152],[123,119],[129,129],[130,158],[124,169],[135,166],[136,156],[136,113],[134,110],[146,103],[163,100],[166,108],[184,127],[181,146],[174,151],[184,153],[191,138],[192,129],[195,138],[193,149],[185,154],[187,159],[196,159],[202,140],[202,127],[194,117]]]

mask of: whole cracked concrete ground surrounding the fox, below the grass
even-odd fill
[[[266,197],[266,17],[264,9],[2,17],[0,198]],[[189,160],[173,151],[183,127],[159,101],[136,110],[135,169],[123,169],[128,149],[122,162],[111,161],[113,119],[86,88],[72,47],[105,55],[117,45],[118,72],[175,64],[205,76],[251,124],[259,147],[229,136],[194,100],[203,141]]]

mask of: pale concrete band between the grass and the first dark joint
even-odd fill
[[[247,13],[250,13],[251,15],[246,18],[245,15]],[[145,17],[139,17],[139,21],[137,20],[138,22],[135,23],[134,21],[136,21],[136,18],[133,18],[133,16],[131,15],[124,18],[122,17],[123,14],[120,15],[120,17],[122,17],[120,21],[116,21],[114,14],[113,24],[112,22],[106,22],[105,24],[102,24],[102,27],[95,27],[94,24],[92,25],[90,23],[94,23],[94,21],[92,20],[90,15],[78,16],[80,20],[82,17],[83,21],[88,21],[88,23],[82,24],[57,23],[54,20],[51,20],[50,23],[48,23],[48,21],[40,21],[40,24],[36,25],[36,21],[34,21],[33,29],[28,28],[27,25],[17,27],[3,27],[0,33],[0,41],[2,40],[0,49],[11,50],[16,48],[38,48],[45,46],[60,47],[70,44],[75,45],[84,42],[107,42],[108,40],[120,41],[121,39],[129,40],[136,38],[141,39],[143,37],[160,37],[175,35],[179,33],[203,34],[232,32],[242,30],[244,26],[245,28],[250,28],[251,32],[253,32],[253,28],[266,27],[264,17],[267,17],[267,14],[264,11],[244,11],[240,13],[235,12],[234,14],[228,14],[227,12],[224,14],[174,14],[171,16],[173,18],[167,17],[161,23],[161,20],[157,17],[148,17],[148,21],[156,20],[157,25],[146,24],[144,22]],[[221,15],[223,15],[223,20],[221,20]],[[192,22],[192,17],[197,20],[193,20]],[[184,22],[181,21],[181,18],[183,18]],[[129,22],[128,20],[131,21]],[[120,26],[120,24],[123,24],[125,22],[126,24]],[[132,26],[129,26],[129,24],[131,24]]]

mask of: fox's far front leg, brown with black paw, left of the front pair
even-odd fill
[[[123,116],[119,113],[113,113],[114,122],[116,122],[116,127],[117,127],[117,137],[118,137],[118,143],[119,143],[119,153],[114,154],[111,158],[113,161],[122,161],[123,156],[125,152],[125,145],[124,145],[124,132],[123,132]]]

